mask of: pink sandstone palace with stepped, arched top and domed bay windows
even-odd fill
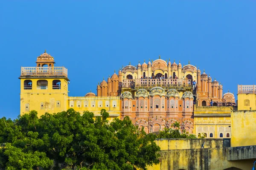
[[[152,62],[152,63],[151,63]],[[183,122],[183,129],[193,130],[194,105],[236,105],[232,93],[223,95],[222,85],[196,68],[160,58],[148,63],[122,67],[97,86],[97,96],[120,96],[121,119],[129,116],[134,125],[148,133]],[[194,82],[194,83],[193,83]],[[193,85],[194,84],[194,85]],[[88,93],[86,96],[96,96]]]

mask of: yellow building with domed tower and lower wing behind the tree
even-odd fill
[[[118,96],[98,97],[93,93],[83,97],[68,96],[67,68],[54,64],[54,58],[45,51],[37,57],[36,67],[21,67],[20,115],[35,110],[41,116],[46,112],[58,113],[74,108],[80,113],[93,112],[95,116],[100,116],[100,111],[106,109],[110,120],[119,117]]]

